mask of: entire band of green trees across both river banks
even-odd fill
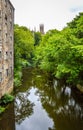
[[[22,67],[31,64],[64,79],[83,85],[83,13],[63,30],[49,30],[45,35],[15,25],[15,85],[20,84]]]

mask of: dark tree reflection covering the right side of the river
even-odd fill
[[[35,86],[39,89],[37,93],[43,108],[54,121],[54,128],[49,130],[83,129],[83,103],[77,102],[69,87],[61,87],[60,84],[53,87],[50,81],[45,82],[44,77],[36,77]]]

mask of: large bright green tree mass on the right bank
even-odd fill
[[[83,84],[83,13],[62,31],[48,31],[36,47],[34,59],[55,77]]]

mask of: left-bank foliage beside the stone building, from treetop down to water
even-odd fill
[[[22,68],[31,65],[34,49],[34,38],[31,31],[24,27],[14,26],[14,84],[21,85]]]

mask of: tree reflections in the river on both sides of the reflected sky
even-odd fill
[[[59,83],[49,80],[49,76],[35,73],[35,71],[26,71],[24,75],[23,86],[30,90],[30,86],[37,87],[37,92],[43,108],[48,116],[53,119],[54,126],[49,130],[83,130],[83,103],[77,100],[69,87],[64,87]],[[29,76],[28,76],[29,75]],[[21,123],[26,117],[33,113],[33,105],[28,100],[29,93],[19,93],[16,98],[16,121]],[[83,100],[82,100],[83,101]]]

